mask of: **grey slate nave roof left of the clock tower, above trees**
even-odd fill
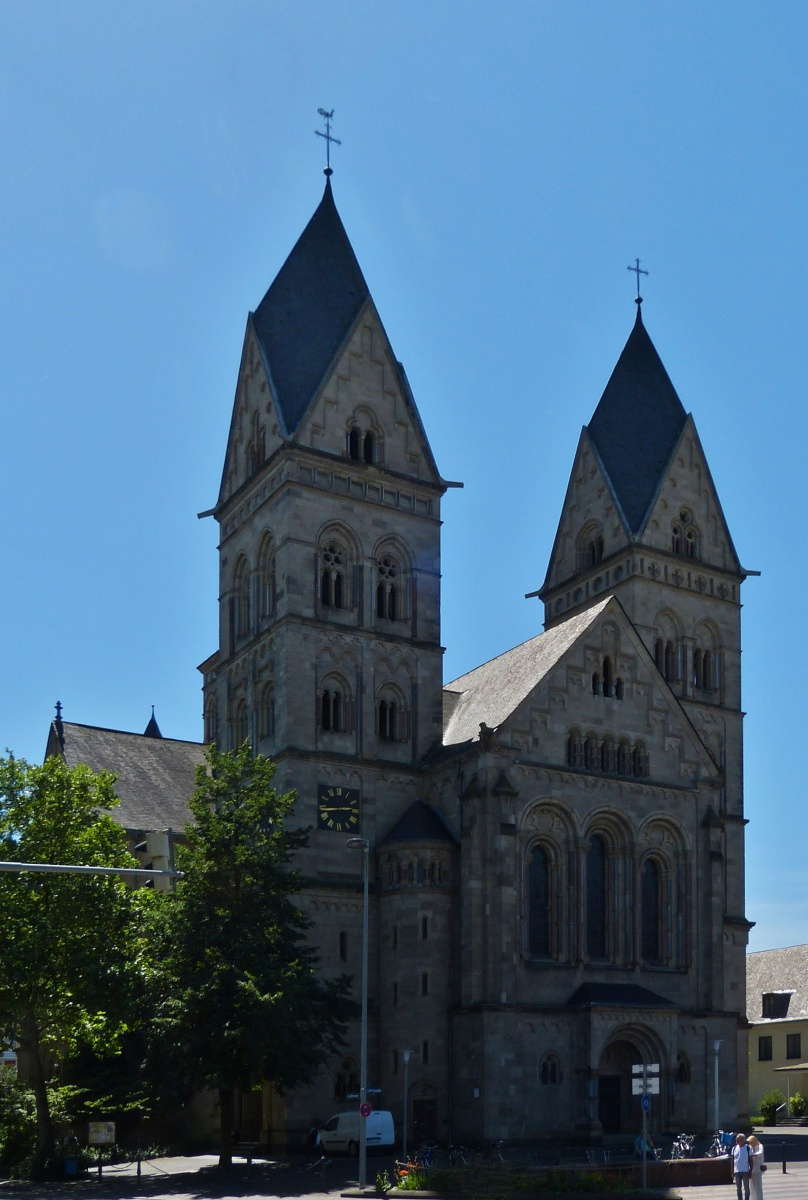
[[[47,754],[60,749],[56,721],[50,725]],[[125,829],[178,829],[191,820],[188,799],[196,768],[204,762],[200,742],[124,733],[95,725],[62,721],[64,757],[68,767],[85,763],[92,770],[118,775],[120,805],[112,816]]]

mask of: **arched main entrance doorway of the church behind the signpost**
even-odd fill
[[[634,1134],[642,1128],[640,1097],[632,1091],[632,1068],[659,1063],[660,1078],[666,1078],[664,1049],[659,1039],[639,1026],[616,1031],[609,1037],[598,1062],[598,1121],[604,1134]],[[648,1129],[658,1128],[663,1117],[663,1096],[651,1097]]]

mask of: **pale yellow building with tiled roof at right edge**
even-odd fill
[[[749,1111],[779,1087],[808,1097],[808,946],[747,955]]]

